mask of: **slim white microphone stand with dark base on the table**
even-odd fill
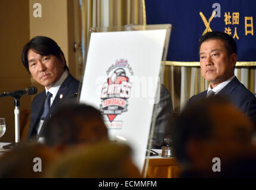
[[[3,148],[5,149],[17,147],[20,144],[20,98],[20,95],[14,96],[15,143],[4,145]]]

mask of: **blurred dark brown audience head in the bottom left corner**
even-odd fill
[[[20,145],[0,156],[0,178],[41,178],[56,157],[44,145]]]

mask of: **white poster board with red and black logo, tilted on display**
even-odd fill
[[[171,25],[136,27],[91,33],[79,102],[103,113],[110,140],[132,148],[141,172]]]

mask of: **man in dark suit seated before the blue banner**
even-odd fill
[[[238,55],[233,37],[220,31],[206,33],[199,40],[199,57],[201,74],[209,81],[209,87],[208,90],[192,96],[188,103],[212,94],[220,94],[228,97],[236,107],[255,121],[256,98],[234,74]]]

